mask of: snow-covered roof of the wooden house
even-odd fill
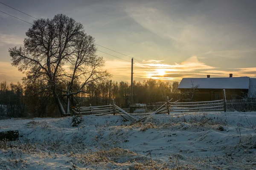
[[[178,88],[249,89],[249,77],[183,78]]]

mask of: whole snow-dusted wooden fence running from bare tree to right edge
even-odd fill
[[[171,99],[172,100],[172,99]],[[134,115],[147,115],[147,114],[160,114],[170,112],[195,112],[195,111],[256,111],[256,99],[233,99],[233,100],[215,100],[204,102],[170,102],[167,98],[167,102],[163,102],[161,107],[158,107],[154,111],[146,111],[141,107],[134,111]],[[158,102],[160,103],[160,102]],[[131,106],[132,108],[133,106]],[[117,105],[104,105],[104,106],[88,106],[78,107],[74,111],[82,115],[96,114],[97,116],[105,114],[120,113],[125,114],[125,118],[128,120],[134,119],[129,114],[131,108],[121,109]]]

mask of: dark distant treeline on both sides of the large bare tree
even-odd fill
[[[134,81],[133,103],[163,102],[169,98],[176,101],[180,98],[177,89],[179,83],[157,81],[155,79]],[[128,82],[114,82],[105,80],[97,84],[87,85],[82,89],[83,93],[71,98],[71,108],[77,104],[81,106],[109,105],[113,104],[121,108],[128,108],[131,99],[131,85]],[[0,82],[0,117],[58,117],[58,106],[49,91],[38,93],[34,86],[24,87],[19,82]],[[61,96],[63,105],[67,105],[66,96]]]

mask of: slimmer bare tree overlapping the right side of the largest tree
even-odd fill
[[[67,114],[70,113],[71,96],[80,92],[87,93],[86,91],[82,91],[86,85],[110,77],[110,74],[101,69],[105,62],[102,57],[95,55],[96,47],[93,42],[94,38],[84,33],[76,36],[74,41],[76,53],[71,60],[71,75],[68,76],[69,84],[65,91],[65,95],[67,96]],[[79,80],[82,81],[81,85],[79,85],[79,88],[74,89],[74,82]]]

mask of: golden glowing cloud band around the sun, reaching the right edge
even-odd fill
[[[114,75],[114,79],[130,81],[131,63],[122,61],[107,61],[106,69]],[[180,81],[188,77],[228,77],[232,73],[234,77],[256,77],[256,68],[236,68],[226,71],[220,70],[204,62],[198,61],[196,56],[190,57],[184,62],[173,65],[164,63],[163,60],[147,60],[142,63],[134,63],[134,79],[159,79],[164,81]]]

